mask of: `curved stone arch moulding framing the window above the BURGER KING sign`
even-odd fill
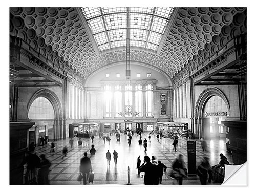
[[[227,100],[224,93],[215,87],[209,87],[202,91],[202,93],[199,95],[196,105],[195,105],[195,117],[203,117],[203,109],[205,103],[208,101],[208,99],[212,96],[219,96],[226,104],[228,109],[228,115],[230,114],[230,105],[229,101]]]

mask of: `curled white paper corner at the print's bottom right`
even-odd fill
[[[247,162],[242,165],[225,165],[222,185],[247,185]]]

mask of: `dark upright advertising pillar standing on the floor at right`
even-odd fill
[[[187,141],[187,175],[197,175],[196,141]]]

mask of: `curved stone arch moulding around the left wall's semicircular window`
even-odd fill
[[[27,117],[29,114],[29,109],[31,104],[34,102],[35,99],[37,99],[38,97],[45,97],[47,98],[54,109],[54,113],[55,113],[55,119],[62,119],[63,115],[62,115],[62,107],[61,107],[61,103],[59,101],[58,96],[51,90],[43,88],[38,90],[30,99],[28,105],[27,105]]]

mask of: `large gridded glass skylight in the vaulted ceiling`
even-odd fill
[[[129,17],[130,46],[157,51],[173,7],[82,7],[99,51],[125,47]]]

